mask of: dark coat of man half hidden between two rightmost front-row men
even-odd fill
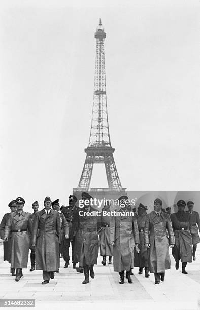
[[[139,244],[140,253],[137,253],[135,249],[134,267],[139,267],[139,268],[148,267],[147,248],[144,245],[144,227],[145,227],[146,216],[147,216],[146,214],[143,216],[139,216],[139,215],[136,216],[138,230],[139,230],[139,238],[140,238],[140,244]],[[143,231],[140,231],[140,230],[143,230]]]

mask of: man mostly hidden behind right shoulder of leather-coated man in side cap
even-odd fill
[[[59,254],[62,253],[63,248],[64,248],[64,239],[69,237],[69,226],[68,222],[66,221],[63,213],[60,211],[60,204],[59,204],[59,199],[56,199],[52,202],[52,208],[53,210],[58,211],[59,216],[60,216],[60,226],[61,226],[61,234],[60,234],[60,243],[59,243]],[[57,270],[59,272],[59,270]]]

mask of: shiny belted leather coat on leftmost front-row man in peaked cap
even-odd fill
[[[28,252],[30,244],[31,222],[29,220],[30,213],[22,210],[21,215],[18,212],[11,212],[5,226],[4,237],[10,236],[11,242],[11,268],[27,268]],[[26,229],[26,231],[12,231],[18,229]]]

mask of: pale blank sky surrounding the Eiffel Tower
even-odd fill
[[[88,146],[99,18],[111,144],[129,191],[198,191],[200,2],[1,1],[2,213],[67,204]],[[107,187],[94,168],[91,187]],[[0,212],[0,213],[1,213]]]

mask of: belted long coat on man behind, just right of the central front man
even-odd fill
[[[110,209],[102,209],[110,212]],[[113,246],[110,242],[110,215],[103,215],[101,213],[101,229],[99,231],[99,245],[100,245],[100,255],[101,256],[113,256]]]

